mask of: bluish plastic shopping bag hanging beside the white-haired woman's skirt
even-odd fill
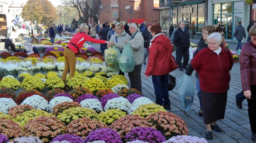
[[[194,101],[194,85],[191,76],[185,73],[178,81],[178,95],[183,109],[188,111]]]

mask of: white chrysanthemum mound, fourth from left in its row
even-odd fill
[[[97,99],[84,99],[80,104],[82,107],[94,109],[96,112],[103,111],[101,103]]]

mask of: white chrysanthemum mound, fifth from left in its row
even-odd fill
[[[130,109],[131,103],[124,97],[116,97],[108,100],[104,110],[107,109],[120,109],[122,111],[128,111]]]

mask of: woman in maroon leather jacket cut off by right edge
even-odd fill
[[[250,28],[249,35],[251,41],[242,46],[240,71],[242,89],[248,102],[252,140],[256,141],[256,25]]]

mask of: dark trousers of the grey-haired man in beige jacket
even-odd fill
[[[134,70],[128,73],[130,83],[131,83],[131,88],[137,89],[138,91],[140,91],[140,93],[142,93],[141,75],[140,75],[141,67],[142,65],[134,66]]]

